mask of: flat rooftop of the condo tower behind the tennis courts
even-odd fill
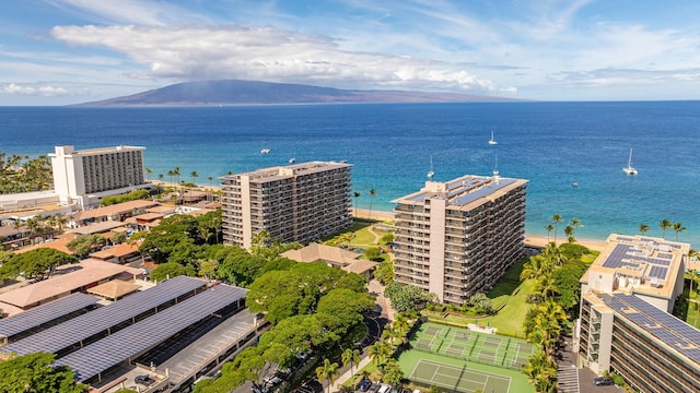
[[[427,200],[447,201],[447,209],[470,210],[524,186],[527,180],[500,176],[465,175],[446,182],[425,181],[420,191],[392,201],[399,204],[424,204]]]

